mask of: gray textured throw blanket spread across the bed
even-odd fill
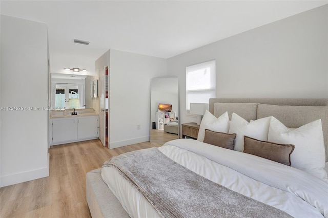
[[[117,168],[162,217],[292,217],[198,175],[155,147],[112,157],[103,167]]]

